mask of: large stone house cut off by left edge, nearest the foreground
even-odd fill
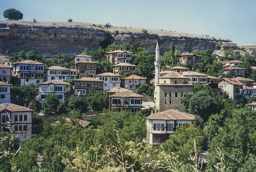
[[[12,103],[0,104],[0,131],[31,139],[33,110]]]

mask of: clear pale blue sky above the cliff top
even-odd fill
[[[215,39],[237,45],[256,44],[255,0],[0,0],[3,12],[14,8],[24,21],[55,21],[144,29],[163,29]]]

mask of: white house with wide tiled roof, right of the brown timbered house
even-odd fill
[[[104,81],[103,90],[107,91],[116,87],[120,87],[121,75],[116,75],[110,72],[102,73],[99,75],[95,75],[99,80]]]

